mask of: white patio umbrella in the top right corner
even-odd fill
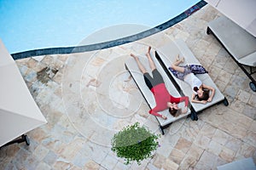
[[[256,37],[256,0],[205,0]]]

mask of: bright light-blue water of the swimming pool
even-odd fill
[[[198,2],[0,0],[0,38],[10,54],[38,48],[70,47],[102,28],[124,24],[159,26]]]

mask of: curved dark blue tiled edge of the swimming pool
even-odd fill
[[[34,49],[28,50],[25,52],[11,54],[14,59],[24,59],[28,57],[40,56],[40,55],[48,55],[48,54],[73,54],[73,53],[82,53],[86,51],[93,51],[98,49],[104,48],[112,48],[114,46],[122,45],[129,42],[134,42],[144,37],[151,36],[155,33],[160,31],[166,30],[167,28],[177,24],[178,22],[186,19],[189,17],[190,14],[193,14],[195,11],[199,10],[200,8],[204,7],[207,3],[201,0],[199,3],[196,3],[191,8],[184,11],[182,14],[177,15],[175,18],[166,21],[165,23],[161,24],[160,26],[155,26],[152,29],[147,31],[143,31],[137,33],[135,35],[129,37],[119,38],[113,41],[108,42],[100,42],[96,44],[90,45],[83,45],[83,46],[74,46],[74,47],[67,47],[67,48],[42,48],[42,49]]]

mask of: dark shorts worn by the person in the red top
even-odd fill
[[[148,72],[144,73],[143,75],[144,80],[150,90],[151,88],[153,88],[154,86],[160,83],[165,83],[163,77],[160,75],[160,72],[157,71],[156,69],[152,71],[152,76],[153,77],[151,77]]]

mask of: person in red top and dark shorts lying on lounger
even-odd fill
[[[154,94],[156,106],[154,107],[154,109],[150,110],[149,113],[154,116],[160,116],[163,119],[167,119],[166,116],[160,115],[158,111],[164,111],[169,108],[169,111],[172,114],[172,116],[176,116],[176,112],[177,110],[179,110],[177,104],[183,101],[185,102],[185,107],[183,108],[182,113],[186,113],[188,111],[189,97],[183,96],[175,98],[168,93],[164,79],[160,75],[160,72],[157,71],[156,66],[154,65],[154,61],[151,59],[150,50],[151,47],[148,47],[148,53],[146,54],[146,56],[148,58],[149,65],[152,70],[153,77],[149,75],[149,73],[146,71],[138,57],[134,54],[131,54],[131,57],[133,57],[136,60],[139,70],[143,73],[143,77],[148,88]]]

